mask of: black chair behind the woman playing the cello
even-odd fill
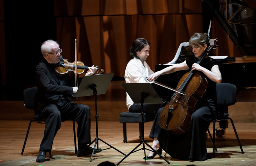
[[[216,122],[223,122],[224,120],[230,120],[235,132],[235,136],[237,137],[237,142],[243,154],[244,151],[242,149],[239,137],[237,135],[237,131],[235,130],[234,122],[230,117],[228,117],[228,106],[234,105],[236,103],[237,88],[235,85],[230,83],[217,83],[216,91],[219,111],[216,117],[214,117],[213,119],[213,137],[211,136],[211,133],[208,129],[209,136],[211,138],[211,141],[213,142],[213,158],[215,156],[215,151],[217,151],[217,148],[215,146],[215,125]]]

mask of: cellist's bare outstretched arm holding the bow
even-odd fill
[[[161,75],[166,75],[166,74],[173,73],[175,71],[186,70],[186,69],[189,69],[189,66],[187,66],[186,61],[184,61],[182,63],[178,63],[175,65],[169,66],[160,71],[157,71],[156,73],[153,73],[152,75],[149,76],[149,78],[147,80],[153,81],[153,80],[156,80]]]

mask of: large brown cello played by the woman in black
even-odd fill
[[[214,44],[209,46],[202,58],[197,61],[201,63],[206,54],[218,47],[219,40],[214,39]],[[179,135],[189,129],[191,115],[197,101],[204,95],[207,88],[207,80],[200,73],[193,70],[182,76],[170,102],[166,104],[159,116],[159,126],[168,130],[171,134]]]

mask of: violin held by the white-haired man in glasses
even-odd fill
[[[70,63],[67,61],[67,59],[63,59],[64,64],[61,64],[60,66],[57,66],[55,68],[55,72],[58,75],[64,75],[68,72],[74,72],[78,75],[83,74],[85,69],[88,69],[88,66],[85,66],[85,64],[81,61],[74,61],[73,63]],[[97,73],[103,73],[104,70],[100,69],[98,66],[95,66],[97,68]]]

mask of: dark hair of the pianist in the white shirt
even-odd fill
[[[150,47],[150,43],[146,39],[144,38],[135,39],[135,41],[133,41],[129,49],[129,54],[131,59],[133,59],[134,57],[139,59],[137,57],[137,51],[141,51],[146,45],[149,45]]]

